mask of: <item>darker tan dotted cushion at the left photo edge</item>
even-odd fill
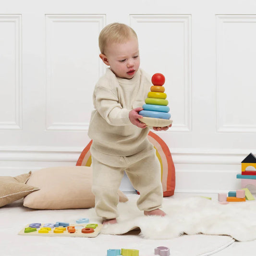
[[[0,207],[23,198],[39,188],[25,184],[31,172],[16,177],[0,177]]]

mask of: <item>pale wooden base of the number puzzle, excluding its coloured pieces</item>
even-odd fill
[[[44,228],[44,225],[45,224],[41,224],[39,228],[36,229],[36,231],[34,232],[28,232],[28,233],[25,233],[25,229],[26,228],[29,228],[29,225],[30,224],[27,224],[20,232],[19,232],[19,235],[28,235],[28,236],[70,236],[70,237],[96,237],[101,228],[102,228],[102,224],[97,224],[98,226],[94,229],[94,232],[92,233],[83,233],[82,230],[86,228],[86,226],[90,224],[90,223],[82,223],[82,224],[70,224],[69,227],[74,227],[75,228],[75,232],[68,232],[68,228],[69,227],[62,227],[62,226],[59,226],[59,227],[54,227],[52,228],[51,230],[49,230],[48,233],[40,233],[39,230],[41,228]],[[92,223],[94,224],[94,223]],[[54,230],[55,229],[63,229],[63,232],[60,232],[60,233],[55,233]]]

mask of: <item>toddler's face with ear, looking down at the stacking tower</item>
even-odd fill
[[[131,38],[125,43],[111,43],[106,54],[100,54],[99,57],[116,76],[131,79],[140,66],[138,40]]]

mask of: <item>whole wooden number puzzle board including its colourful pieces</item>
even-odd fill
[[[40,224],[38,228],[30,226],[36,226]],[[56,222],[53,227],[49,227],[52,223],[31,223],[28,224],[24,229],[19,232],[19,235],[34,235],[34,236],[72,236],[72,237],[96,237],[101,228],[102,224],[89,223],[89,224],[71,224],[66,222]],[[64,226],[62,226],[62,224]],[[56,226],[57,225],[57,226]]]

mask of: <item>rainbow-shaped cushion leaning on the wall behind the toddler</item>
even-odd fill
[[[156,149],[156,155],[161,166],[161,181],[163,187],[163,196],[171,196],[174,194],[175,189],[175,167],[172,161],[171,152],[165,142],[153,132],[147,135],[148,140],[153,144]],[[92,158],[90,147],[92,140],[88,143],[82,151],[80,157],[76,162],[76,166],[91,166]],[[139,192],[137,192],[139,194]]]

